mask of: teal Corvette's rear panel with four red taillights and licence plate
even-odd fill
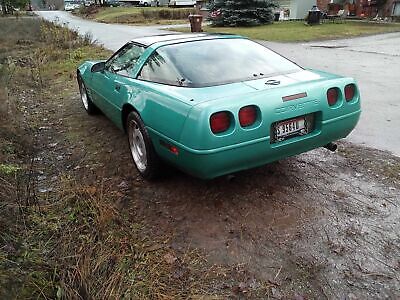
[[[346,137],[360,117],[358,87],[321,75],[194,105],[170,158],[194,176],[214,178]]]

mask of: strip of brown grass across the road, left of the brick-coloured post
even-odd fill
[[[194,12],[193,8],[104,7],[83,9],[79,14],[104,23],[177,24],[188,22],[188,15]]]

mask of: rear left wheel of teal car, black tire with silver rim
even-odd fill
[[[140,175],[147,180],[155,179],[160,174],[160,159],[157,156],[149,133],[135,111],[129,113],[126,121],[129,149]]]

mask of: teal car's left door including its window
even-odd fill
[[[96,105],[115,123],[120,122],[122,105],[128,97],[126,83],[133,78],[137,61],[145,48],[128,43],[107,62],[103,72],[93,74]]]

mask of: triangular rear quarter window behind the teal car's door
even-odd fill
[[[148,58],[137,78],[168,85],[186,85],[174,64],[166,56],[161,56],[157,52]]]

